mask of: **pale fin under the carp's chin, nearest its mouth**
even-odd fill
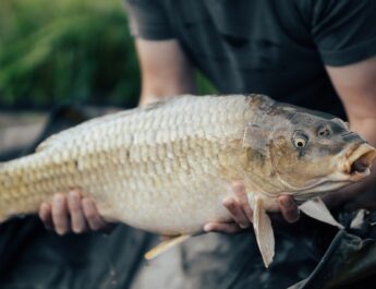
[[[310,217],[324,221],[326,224],[336,226],[340,229],[343,229],[344,227],[339,224],[335,217],[331,215],[328,207],[325,205],[322,198],[314,197],[302,205],[299,206],[301,210],[303,210],[306,215]]]

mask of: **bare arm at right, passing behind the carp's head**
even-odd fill
[[[376,146],[376,57],[345,67],[327,67],[348,113],[350,129]],[[376,162],[366,181],[329,193],[326,202],[349,208],[376,208]]]

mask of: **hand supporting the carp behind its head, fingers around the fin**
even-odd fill
[[[244,185],[235,183],[233,192],[234,196],[223,200],[223,206],[229,210],[233,221],[208,222],[204,227],[205,231],[235,233],[252,227],[253,212],[250,207]],[[299,208],[292,196],[281,195],[278,198],[278,203],[284,220],[295,222],[299,219]]]

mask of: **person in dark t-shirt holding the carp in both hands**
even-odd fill
[[[198,69],[222,94],[265,94],[348,119],[352,131],[376,145],[375,1],[125,3],[142,68],[142,106],[194,94]],[[353,218],[343,210],[376,208],[375,177],[374,170],[366,181],[324,196],[345,231],[305,216],[298,220],[294,197],[280,195],[281,216],[294,224],[275,220],[277,248],[269,269],[246,230],[253,212],[244,185],[234,183],[233,196],[223,200],[233,221],[203,229],[241,233],[208,233],[175,246],[138,268],[130,288],[366,288],[376,265],[375,216],[361,210]],[[56,195],[41,204],[39,216],[60,234],[108,226],[84,195]]]

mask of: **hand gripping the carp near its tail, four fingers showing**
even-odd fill
[[[51,203],[40,205],[39,217],[46,228],[59,234],[96,231],[110,226],[100,217],[95,203],[90,198],[83,197],[78,191],[56,194]]]

